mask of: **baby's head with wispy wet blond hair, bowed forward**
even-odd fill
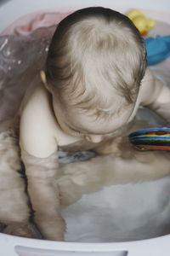
[[[145,56],[139,31],[116,11],[81,9],[62,20],[45,71],[62,128],[88,137],[124,125],[138,96]]]

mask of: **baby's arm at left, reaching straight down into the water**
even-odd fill
[[[60,215],[59,192],[54,185],[59,163],[57,143],[41,113],[26,109],[20,119],[21,157],[26,166],[28,194],[38,229],[48,240],[63,240],[65,222]]]

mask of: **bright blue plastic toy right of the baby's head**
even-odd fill
[[[170,56],[170,36],[144,39],[148,65],[155,65]]]

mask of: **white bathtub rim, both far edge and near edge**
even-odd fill
[[[170,24],[170,2],[137,0],[7,0],[0,3],[0,32],[14,20],[31,12],[48,9],[68,11],[92,5],[114,7],[125,13],[128,9],[142,9],[145,15]],[[169,13],[168,13],[169,12]],[[8,17],[8,18],[7,18]],[[140,241],[123,242],[75,242],[42,241],[0,234],[0,255],[2,256],[161,256],[170,255],[170,235]]]

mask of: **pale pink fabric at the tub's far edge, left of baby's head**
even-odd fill
[[[67,15],[71,13],[33,13],[21,17],[15,20],[10,26],[8,26],[1,35],[15,34],[15,35],[27,35],[38,27],[53,26],[58,24],[60,20],[63,20]]]

